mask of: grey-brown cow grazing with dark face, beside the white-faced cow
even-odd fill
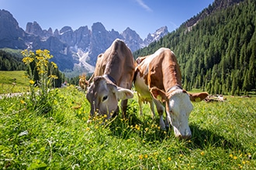
[[[106,114],[107,118],[118,112],[118,101],[122,100],[123,114],[127,99],[133,97],[134,59],[126,44],[116,39],[105,53],[98,56],[94,78],[86,94],[91,104],[90,114]]]

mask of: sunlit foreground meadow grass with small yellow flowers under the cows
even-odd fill
[[[88,121],[85,93],[57,90],[50,114],[36,115],[27,97],[0,100],[0,168],[3,169],[255,169],[256,98],[193,103],[192,138],[161,131],[137,95],[121,115]],[[158,115],[157,115],[158,117]]]

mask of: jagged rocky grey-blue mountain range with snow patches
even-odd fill
[[[92,73],[97,56],[103,53],[114,39],[122,39],[134,52],[150,42],[159,40],[168,34],[166,26],[158,32],[149,33],[150,39],[141,39],[136,31],[127,27],[123,32],[114,29],[108,31],[101,22],[95,22],[92,28],[81,26],[73,30],[71,26],[64,26],[60,30],[42,29],[36,21],[28,22],[26,30],[19,27],[19,23],[12,13],[0,9],[0,48],[10,49],[49,49],[54,55],[52,59],[61,71]]]

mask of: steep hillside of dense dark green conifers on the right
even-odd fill
[[[256,2],[213,12],[192,27],[182,24],[158,42],[133,55],[146,56],[160,47],[177,56],[186,90],[240,95],[255,90]],[[209,6],[211,8],[212,6]]]

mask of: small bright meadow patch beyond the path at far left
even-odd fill
[[[25,71],[0,71],[0,94],[29,90]]]

